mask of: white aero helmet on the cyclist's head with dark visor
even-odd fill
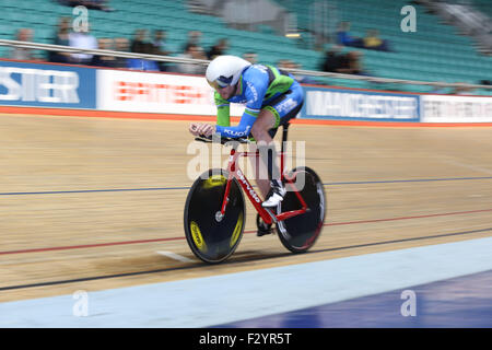
[[[235,85],[243,70],[250,65],[247,60],[237,56],[218,56],[207,67],[207,81],[215,90]]]

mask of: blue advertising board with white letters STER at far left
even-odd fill
[[[0,61],[0,105],[94,109],[95,69]]]

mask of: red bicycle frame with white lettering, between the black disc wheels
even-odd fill
[[[260,156],[259,155],[259,151],[257,150],[256,152],[237,152],[236,148],[237,148],[237,145],[234,145],[232,148],[231,153],[230,153],[230,158],[229,158],[229,165],[227,165],[229,178],[227,178],[227,184],[225,186],[224,199],[222,201],[222,208],[221,208],[221,214],[222,215],[224,215],[224,213],[225,213],[225,207],[227,206],[227,199],[229,199],[231,182],[233,180],[233,178],[236,178],[238,180],[241,187],[243,188],[244,192],[246,194],[246,196],[251,201],[251,203],[255,207],[256,211],[258,212],[258,214],[261,217],[261,219],[267,224],[277,223],[278,221],[282,221],[282,220],[285,220],[285,219],[289,219],[289,218],[292,218],[292,217],[295,217],[295,215],[300,215],[300,214],[303,214],[303,213],[305,213],[307,211],[307,205],[304,201],[304,199],[301,196],[301,194],[295,188],[295,186],[293,185],[292,178],[289,178],[288,176],[285,176],[283,174],[283,172],[284,172],[284,170],[283,170],[283,167],[284,167],[284,154],[285,154],[285,152],[283,150],[283,142],[282,142],[282,150],[280,152],[281,179],[282,180],[285,179],[288,185],[290,185],[292,187],[292,190],[294,191],[296,198],[298,199],[298,201],[301,203],[301,209],[292,210],[292,211],[288,211],[288,212],[281,212],[279,214],[273,214],[269,209],[266,209],[266,208],[261,207],[262,200],[257,195],[257,192],[255,191],[255,189],[253,188],[251,184],[248,182],[246,176],[243,174],[241,168],[237,166],[237,160],[238,160],[239,156],[255,156],[255,158],[258,158],[258,156]]]

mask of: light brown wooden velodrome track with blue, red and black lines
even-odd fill
[[[183,229],[188,124],[1,115],[0,302],[492,235],[492,128],[294,125],[326,184],[317,244],[292,255],[257,237],[248,203],[235,255],[198,262]]]

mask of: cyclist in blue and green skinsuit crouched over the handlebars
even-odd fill
[[[269,177],[267,182],[257,178],[258,187],[266,198],[261,205],[265,208],[277,207],[285,196],[285,188],[276,164],[273,137],[279,126],[286,124],[301,110],[304,103],[302,86],[290,73],[276,67],[251,65],[229,55],[213,59],[207,68],[206,78],[215,89],[218,124],[194,122],[189,131],[194,136],[206,137],[215,132],[229,138],[253,136]],[[246,104],[237,126],[230,124],[231,103]],[[261,148],[267,148],[267,152],[262,152]]]

